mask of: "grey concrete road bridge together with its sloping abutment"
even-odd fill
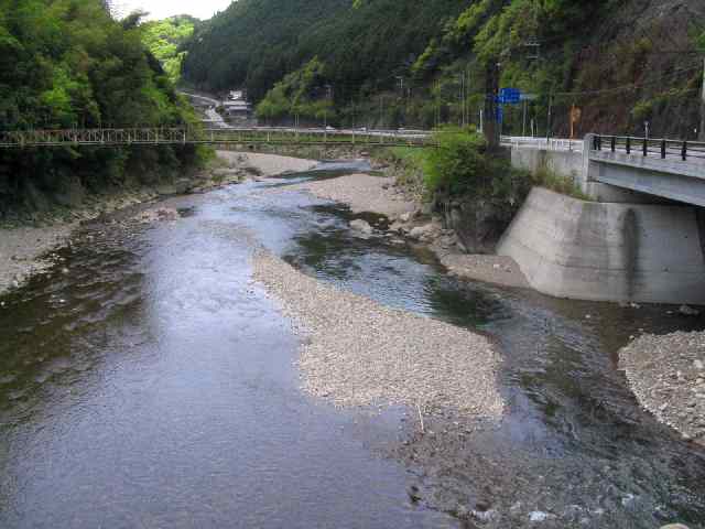
[[[534,190],[498,246],[539,291],[705,304],[705,144],[588,136],[511,142],[512,163],[592,201]]]

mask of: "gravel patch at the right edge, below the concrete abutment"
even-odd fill
[[[705,445],[705,333],[646,334],[619,352],[619,364],[641,406]]]

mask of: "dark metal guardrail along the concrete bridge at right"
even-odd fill
[[[636,138],[631,136],[593,137],[594,151],[619,152],[633,155],[653,156],[661,160],[705,163],[705,143],[665,138]]]

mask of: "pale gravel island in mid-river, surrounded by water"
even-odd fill
[[[499,355],[482,335],[386,307],[310,278],[264,251],[254,279],[302,337],[303,388],[338,407],[452,407],[499,418]]]

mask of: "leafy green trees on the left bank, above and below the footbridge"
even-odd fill
[[[192,119],[141,42],[138,17],[99,0],[0,0],[0,127],[172,126]],[[192,148],[55,148],[0,152],[0,218],[74,205],[129,181],[194,163]],[[139,183],[138,182],[138,183]]]

